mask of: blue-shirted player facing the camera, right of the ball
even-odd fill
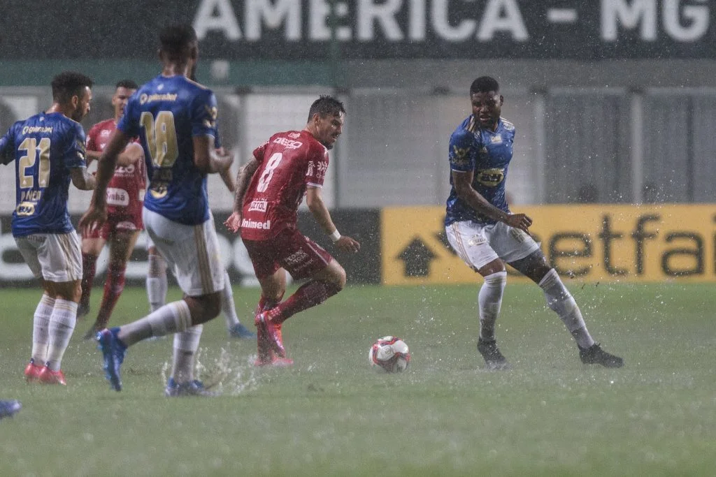
[[[478,351],[489,370],[508,369],[495,341],[507,282],[505,262],[542,288],[554,310],[576,340],[582,363],[619,368],[624,361],[602,350],[589,335],[574,297],[550,267],[539,245],[528,234],[530,217],[513,214],[505,200],[505,180],[512,160],[515,126],[500,117],[504,98],[491,77],[470,86],[473,114],[450,137],[450,197],[445,232],[450,245],[470,268],[483,276],[478,294]]]

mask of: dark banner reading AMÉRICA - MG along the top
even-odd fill
[[[151,61],[172,23],[193,24],[208,59],[716,56],[707,0],[4,0],[2,10],[13,32],[3,59]],[[67,11],[91,18],[57,21]]]

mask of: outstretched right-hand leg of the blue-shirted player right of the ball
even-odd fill
[[[579,305],[564,286],[556,270],[550,267],[541,250],[532,252],[527,257],[510,262],[516,270],[535,282],[544,292],[547,306],[551,308],[579,347],[579,357],[586,364],[601,364],[607,368],[620,368],[624,365],[621,358],[606,353],[601,349],[586,328]]]

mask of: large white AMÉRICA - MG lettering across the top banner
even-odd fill
[[[475,1],[474,9],[466,9],[450,0],[344,0],[336,1],[332,9],[330,0],[200,0],[193,26],[200,40],[213,33],[229,41],[257,42],[271,32],[287,42],[328,41],[333,13],[336,39],[344,42],[432,41],[428,31],[437,40],[450,42],[471,39],[489,42],[498,35],[524,42],[531,35],[520,1]],[[602,41],[616,41],[624,34],[632,36],[633,31],[638,32],[642,41],[656,41],[659,14],[665,36],[675,41],[703,39],[710,28],[708,0],[600,0],[599,7]],[[549,5],[543,8],[543,16],[548,19],[553,9]],[[575,22],[576,18],[574,10]],[[551,23],[554,21],[547,20],[545,27],[549,28]],[[590,21],[583,27],[589,28],[591,24]]]

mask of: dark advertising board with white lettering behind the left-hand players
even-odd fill
[[[258,281],[253,273],[251,260],[246,247],[238,235],[226,230],[223,222],[230,212],[214,212],[214,222],[218,232],[221,260],[231,277],[234,287],[257,287]],[[310,212],[299,212],[299,230],[333,255],[346,270],[348,282],[352,285],[380,282],[380,211],[376,209],[334,210],[331,212],[334,223],[344,235],[350,235],[361,242],[361,251],[355,255],[339,252],[323,232]],[[33,287],[37,282],[25,264],[11,233],[11,216],[0,216],[0,288]],[[75,227],[78,215],[72,217]],[[97,260],[95,286],[102,286],[107,271],[109,257],[105,246]],[[142,232],[130,262],[127,263],[127,285],[144,286],[147,276],[147,233]],[[170,283],[175,284],[171,274]],[[290,277],[289,277],[290,280]]]

